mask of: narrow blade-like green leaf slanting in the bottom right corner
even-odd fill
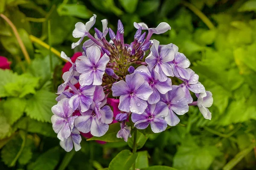
[[[255,147],[255,144],[251,144],[249,147],[247,147],[246,149],[244,149],[241,152],[239,152],[238,154],[236,154],[235,158],[231,159],[223,167],[223,170],[231,170],[231,169],[233,169],[233,167],[236,166],[236,164],[238,164],[239,161],[241,161],[244,158],[244,156],[247,156],[247,154],[250,153],[250,151],[253,150],[254,147]]]

